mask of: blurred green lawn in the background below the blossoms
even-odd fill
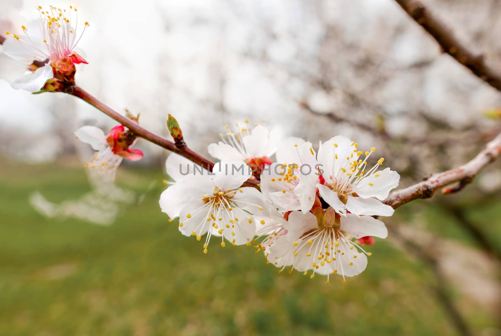
[[[430,296],[427,267],[388,241],[370,248],[364,273],[326,285],[279,274],[252,247],[213,244],[204,255],[160,212],[161,172],[121,168],[117,180],[138,194],[157,184],[109,227],[47,220],[28,204],[34,190],[53,202],[78,198],[89,190],[82,169],[0,172],[0,335],[455,334]],[[491,207],[484,212],[499,218]],[[433,208],[426,217],[456,235]],[[461,306],[476,330],[494,324],[474,302]]]

